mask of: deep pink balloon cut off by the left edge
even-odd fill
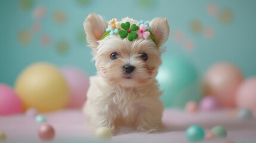
[[[10,86],[0,83],[0,116],[21,113],[23,109],[20,97]]]

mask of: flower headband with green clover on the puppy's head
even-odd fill
[[[134,39],[150,38],[155,43],[156,47],[158,47],[156,39],[153,36],[152,32],[150,32],[150,29],[151,27],[149,26],[149,23],[143,20],[141,20],[137,26],[136,24],[131,25],[129,21],[120,24],[120,22],[117,21],[116,18],[113,18],[109,21],[109,26],[107,27],[104,35],[101,37],[101,40],[109,35],[115,35],[116,33],[118,33],[118,35],[123,39],[128,37],[129,41],[133,41]]]

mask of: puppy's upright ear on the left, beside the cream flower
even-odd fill
[[[93,49],[97,48],[98,40],[106,32],[107,22],[103,20],[101,15],[91,13],[84,21],[84,30],[87,35],[87,42]]]

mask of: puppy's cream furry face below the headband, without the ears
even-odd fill
[[[98,71],[109,83],[130,87],[155,79],[161,53],[150,39],[130,42],[110,35],[99,42],[94,59]]]

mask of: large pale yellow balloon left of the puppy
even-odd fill
[[[15,86],[24,108],[40,113],[60,110],[69,101],[69,88],[60,71],[49,63],[34,63],[24,69]]]

